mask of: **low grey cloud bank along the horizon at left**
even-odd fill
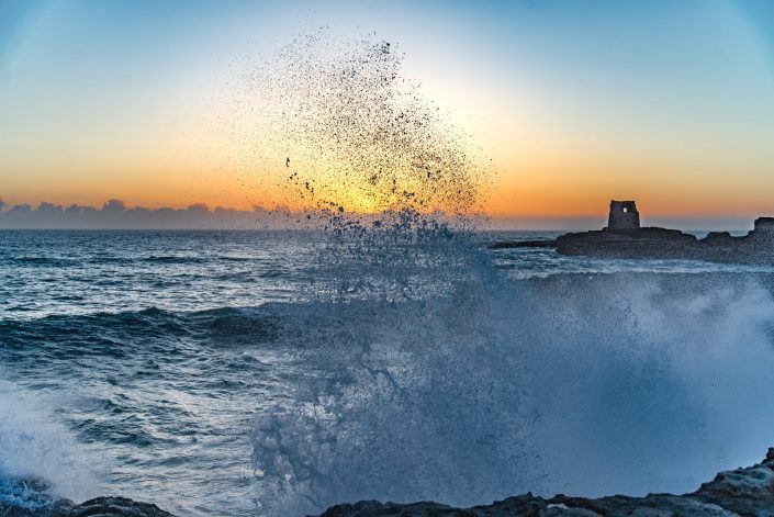
[[[303,218],[287,209],[267,210],[260,205],[253,210],[223,206],[210,210],[204,203],[187,209],[130,209],[124,201],[111,199],[101,209],[45,201],[37,207],[26,203],[9,207],[0,198],[0,228],[261,229],[292,227]]]

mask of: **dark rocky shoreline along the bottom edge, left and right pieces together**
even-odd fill
[[[9,517],[175,517],[158,506],[125,497],[97,497],[80,505],[60,499],[53,506],[29,510],[0,503],[0,515]],[[774,448],[752,467],[718,473],[695,492],[683,495],[649,494],[644,497],[613,495],[599,498],[551,498],[530,493],[496,501],[491,505],[455,508],[434,502],[379,503],[361,501],[332,506],[319,517],[771,517],[774,516]]]

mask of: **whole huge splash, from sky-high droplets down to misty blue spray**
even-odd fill
[[[770,441],[754,429],[774,428],[769,291],[732,276],[507,279],[438,216],[474,212],[486,167],[400,63],[386,42],[313,35],[255,82],[289,192],[332,231],[318,271],[335,279],[276,338],[302,373],[255,424],[262,509],[677,492],[754,460]]]

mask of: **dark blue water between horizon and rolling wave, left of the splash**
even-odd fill
[[[13,317],[198,311],[288,301],[322,236],[283,232],[2,232],[0,311]]]

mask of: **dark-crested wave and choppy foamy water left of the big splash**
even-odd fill
[[[98,495],[80,467],[101,473],[108,461],[112,493],[180,515],[250,507],[210,494],[243,491],[249,414],[281,374],[256,347],[279,324],[270,310],[237,308],[0,319],[2,373],[15,383],[0,393],[0,498],[23,496],[13,504],[27,508],[80,502]]]

